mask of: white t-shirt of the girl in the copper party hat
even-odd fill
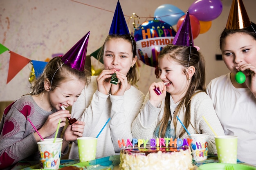
[[[256,98],[249,88],[235,88],[230,73],[207,86],[225,135],[238,136],[237,158],[256,166]]]

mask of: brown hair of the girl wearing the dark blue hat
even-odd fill
[[[136,56],[136,42],[135,42],[133,36],[130,35],[130,34],[124,34],[124,35],[111,34],[111,35],[108,35],[108,37],[106,38],[103,46],[100,49],[100,52],[98,53],[97,57],[98,57],[99,61],[103,60],[103,53],[104,53],[104,48],[105,48],[106,42],[108,42],[108,40],[118,39],[118,38],[124,39],[124,40],[126,40],[127,42],[129,42],[131,44],[132,58],[135,58],[135,56]],[[139,80],[139,75],[137,75],[136,70],[137,70],[137,61],[134,64],[134,66],[130,68],[130,70],[128,71],[128,73],[126,75],[127,80],[131,85],[136,84],[137,81]]]

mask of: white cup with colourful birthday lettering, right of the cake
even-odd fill
[[[189,135],[189,139],[193,140],[190,145],[193,160],[196,162],[202,162],[206,160],[208,156],[209,135],[191,134]]]

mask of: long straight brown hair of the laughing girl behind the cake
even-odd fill
[[[204,66],[204,57],[202,54],[195,48],[191,46],[177,46],[169,44],[165,46],[162,51],[160,51],[158,55],[158,59],[168,56],[175,60],[175,62],[179,63],[180,65],[184,66],[184,74],[186,74],[186,68],[189,66],[195,67],[195,73],[191,77],[191,83],[189,84],[189,89],[186,92],[185,96],[181,99],[180,104],[177,106],[174,117],[171,117],[171,110],[170,110],[170,93],[166,93],[165,97],[165,104],[164,104],[164,116],[162,117],[159,129],[159,135],[162,137],[165,136],[165,132],[167,129],[169,119],[173,119],[175,132],[177,131],[177,118],[176,116],[179,115],[179,112],[183,107],[186,108],[185,111],[185,119],[184,119],[184,126],[186,128],[189,127],[190,118],[191,118],[191,99],[192,97],[200,92],[203,91],[206,93],[206,86],[205,86],[205,66]],[[194,128],[194,127],[193,127]],[[183,128],[180,137],[184,135],[185,129]]]

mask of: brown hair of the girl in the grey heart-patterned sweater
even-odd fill
[[[79,79],[85,82],[85,85],[88,85],[90,83],[89,77],[90,72],[87,69],[84,71],[78,71],[64,64],[61,57],[54,57],[47,63],[40,77],[31,83],[31,91],[29,94],[38,95],[45,92],[45,79],[48,79],[48,81],[51,82],[51,91],[54,91],[61,82],[72,79]]]

